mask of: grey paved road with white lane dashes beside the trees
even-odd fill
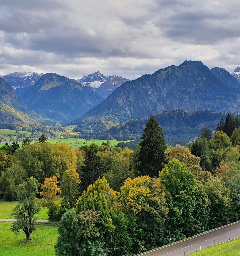
[[[240,237],[240,221],[193,236],[182,242],[168,245],[150,252],[142,253],[140,255],[184,256],[199,251],[200,246],[202,249],[213,246],[214,240],[215,244],[217,245],[229,241],[229,238],[232,240],[238,237]]]

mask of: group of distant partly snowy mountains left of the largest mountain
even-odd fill
[[[2,79],[15,88],[15,92],[28,109],[61,124],[79,118],[115,88],[128,81],[123,77],[106,77],[100,72],[79,80],[55,73],[34,72],[15,72],[3,76]]]

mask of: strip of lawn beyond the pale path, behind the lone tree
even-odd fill
[[[9,219],[10,215],[12,214],[12,209],[17,204],[18,202],[7,202],[7,201],[4,201],[3,199],[0,199],[0,219]],[[38,214],[36,214],[36,216],[38,219],[47,220],[48,219],[47,212],[48,212],[48,209],[44,208]]]

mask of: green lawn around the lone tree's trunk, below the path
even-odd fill
[[[57,226],[39,225],[32,233],[33,241],[25,241],[25,234],[14,235],[11,222],[0,222],[0,255],[2,256],[54,256]]]

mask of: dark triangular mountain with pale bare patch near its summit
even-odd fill
[[[33,86],[23,89],[21,99],[28,108],[62,124],[80,117],[102,101],[91,88],[55,73],[46,73]]]

